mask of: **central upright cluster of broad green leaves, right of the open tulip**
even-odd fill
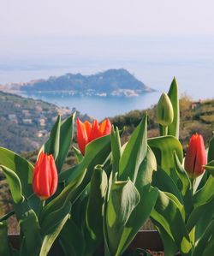
[[[112,146],[115,147],[112,151],[122,153],[112,154],[112,163],[119,163],[119,173],[115,172],[114,167],[105,204],[106,255],[121,255],[126,250],[146,222],[158,197],[158,190],[150,184],[156,161],[147,147],[146,116],[143,116],[123,149],[120,149],[120,143],[116,143],[116,138],[116,134],[111,137]]]

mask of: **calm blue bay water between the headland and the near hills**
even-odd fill
[[[160,92],[150,92],[136,98],[122,97],[77,97],[67,93],[21,93],[22,96],[39,98],[59,106],[75,107],[82,114],[86,113],[102,120],[107,116],[116,116],[130,110],[144,110],[152,104],[156,104]]]

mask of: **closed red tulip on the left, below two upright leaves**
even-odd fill
[[[33,192],[40,199],[48,199],[56,192],[57,183],[58,176],[53,156],[41,152],[33,170]]]

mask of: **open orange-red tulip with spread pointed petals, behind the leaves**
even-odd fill
[[[107,118],[104,122],[98,124],[98,120],[94,120],[92,124],[88,121],[81,122],[77,118],[77,142],[80,148],[80,152],[84,155],[86,145],[99,137],[110,134],[111,123]]]

